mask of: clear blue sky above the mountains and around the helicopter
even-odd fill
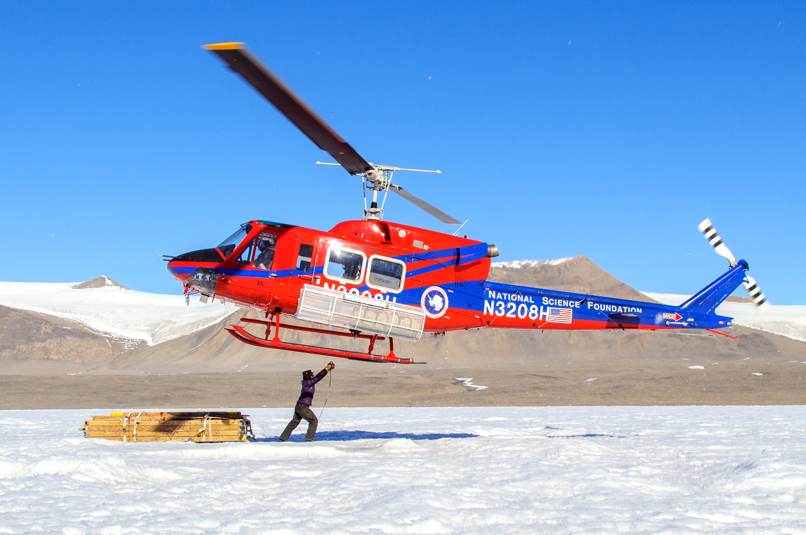
[[[0,29],[0,280],[179,293],[156,254],[359,218],[359,180],[199,48],[243,41],[367,160],[441,169],[396,182],[500,260],[695,292],[710,217],[806,303],[803,2],[3,2]]]

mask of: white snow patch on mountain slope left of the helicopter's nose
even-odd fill
[[[101,288],[80,289],[69,282],[0,282],[0,305],[77,321],[149,346],[214,325],[236,309],[193,299],[187,305],[183,296],[137,292],[106,280]]]

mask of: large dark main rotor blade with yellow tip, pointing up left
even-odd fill
[[[318,114],[302,102],[300,97],[285,85],[280,78],[252,56],[243,43],[206,44],[206,48],[218,55],[230,65],[233,72],[240,74],[244,80],[258,90],[268,102],[271,102],[289,121],[297,125],[316,146],[327,151],[334,160],[342,164],[351,175],[357,175],[372,169],[349,143],[342,139],[330,125]]]

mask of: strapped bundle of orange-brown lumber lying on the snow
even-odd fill
[[[193,442],[235,442],[255,440],[248,414],[197,413],[111,413],[84,422],[86,438],[123,442],[192,440]]]

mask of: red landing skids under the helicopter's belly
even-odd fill
[[[377,334],[341,333],[339,331],[334,330],[315,329],[314,327],[303,327],[296,325],[283,326],[286,329],[302,330],[309,333],[332,334],[334,336],[348,336],[351,338],[364,338],[369,340],[369,347],[367,352],[359,353],[358,351],[336,350],[336,349],[330,349],[328,347],[305,346],[304,344],[283,342],[282,340],[280,340],[280,314],[277,313],[274,314],[274,338],[272,338],[271,340],[268,339],[268,336],[272,329],[272,321],[254,320],[251,319],[251,317],[242,317],[241,321],[246,321],[247,323],[258,323],[260,325],[266,326],[266,335],[263,339],[257,338],[256,336],[247,333],[246,329],[244,329],[243,326],[231,325],[232,329],[227,329],[227,331],[229,331],[229,333],[232,336],[239,339],[243,343],[249,344],[250,346],[268,347],[270,349],[282,349],[286,351],[297,351],[299,353],[324,355],[326,357],[339,357],[339,359],[368,360],[376,363],[377,362],[401,363],[401,364],[414,363],[414,359],[397,358],[394,351],[394,341],[392,337],[389,337],[388,354],[373,355],[372,349],[375,347],[375,342],[377,340],[385,340],[386,338],[384,338],[383,336],[378,336]]]

